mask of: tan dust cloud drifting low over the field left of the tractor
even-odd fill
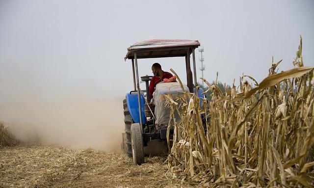
[[[0,103],[0,121],[9,124],[12,134],[26,143],[118,152],[124,131],[122,100],[78,93],[51,99],[21,95]]]

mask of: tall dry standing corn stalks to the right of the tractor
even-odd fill
[[[280,63],[262,82],[243,75],[226,93],[204,80],[211,101],[168,95],[181,121],[172,145],[168,138],[166,174],[209,187],[314,187],[314,67],[303,64],[302,38],[295,68],[277,73]]]

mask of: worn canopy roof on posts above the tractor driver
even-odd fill
[[[137,58],[186,56],[192,53],[189,49],[194,50],[199,46],[197,40],[149,39],[133,44],[124,59],[134,59],[134,53]]]

